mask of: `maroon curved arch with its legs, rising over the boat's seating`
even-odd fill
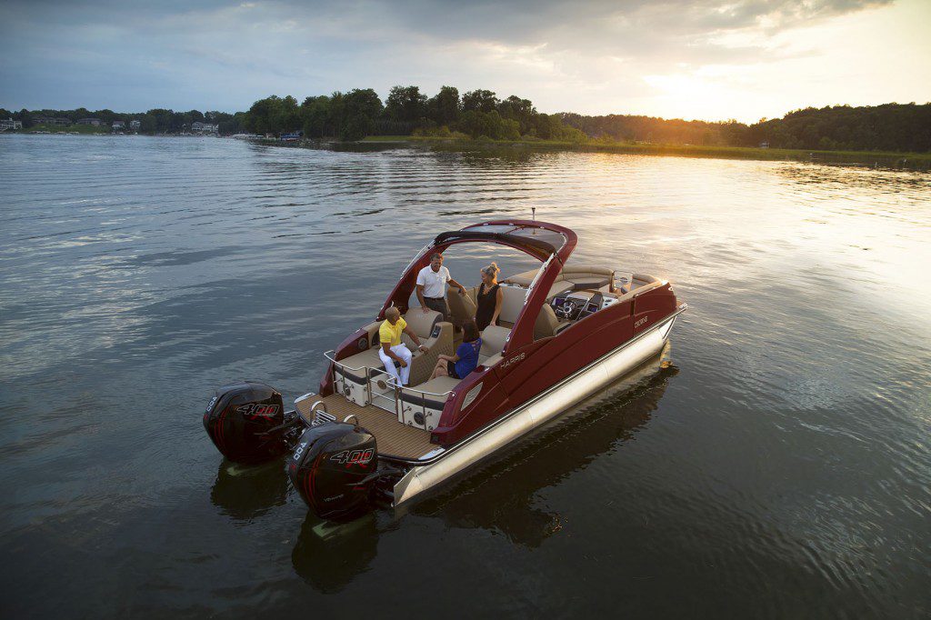
[[[533,281],[528,291],[527,301],[514,322],[514,328],[507,339],[503,353],[533,342],[533,324],[540,313],[540,307],[546,302],[546,294],[562,271],[562,266],[575,249],[578,237],[572,230],[558,224],[536,222],[531,220],[494,220],[466,226],[460,230],[440,233],[431,243],[414,257],[398,284],[385,300],[378,320],[385,318],[385,309],[394,305],[401,313],[408,310],[417,273],[430,263],[430,254],[442,252],[457,243],[484,242],[496,243],[509,248],[519,249],[543,262],[541,273]]]

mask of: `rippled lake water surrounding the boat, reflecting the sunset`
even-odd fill
[[[79,136],[0,172],[4,617],[931,613],[926,173]],[[322,536],[223,462],[216,386],[316,389],[427,240],[531,207],[673,282],[665,368]]]

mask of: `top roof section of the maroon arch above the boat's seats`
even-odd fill
[[[572,253],[577,237],[557,224],[530,220],[495,220],[440,233],[433,246],[449,247],[464,241],[489,241],[521,249],[540,261],[556,254],[560,263]]]

